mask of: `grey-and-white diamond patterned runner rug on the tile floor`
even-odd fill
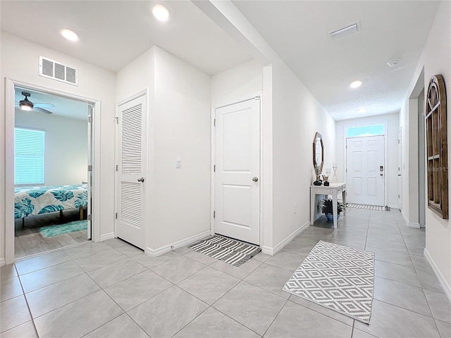
[[[374,289],[374,253],[320,241],[283,291],[368,324]]]

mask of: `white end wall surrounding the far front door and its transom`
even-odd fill
[[[388,184],[385,187],[388,199],[385,205],[397,208],[397,133],[399,130],[399,114],[384,114],[369,116],[367,118],[352,118],[350,120],[340,120],[335,123],[335,154],[337,160],[338,181],[346,182],[346,129],[362,125],[376,125],[383,123],[385,130],[385,144],[387,163],[385,163],[385,175],[388,177]],[[333,171],[333,170],[332,170]]]

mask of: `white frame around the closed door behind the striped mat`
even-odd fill
[[[215,126],[215,118],[216,118],[216,109],[218,108],[223,108],[226,106],[231,106],[233,104],[239,104],[240,102],[244,102],[244,101],[249,101],[252,99],[256,99],[257,97],[259,97],[260,100],[260,177],[259,177],[259,189],[260,189],[260,199],[259,199],[259,236],[260,236],[260,245],[259,247],[263,247],[263,194],[261,193],[264,189],[264,182],[262,180],[262,178],[264,177],[263,175],[263,165],[261,165],[262,163],[262,159],[263,159],[263,132],[262,132],[262,123],[263,123],[263,114],[261,113],[261,101],[262,101],[262,95],[261,92],[256,92],[255,94],[250,94],[248,96],[242,96],[240,99],[236,99],[236,100],[230,100],[226,103],[221,103],[221,104],[216,104],[215,106],[211,106],[211,210],[210,210],[210,234],[213,236],[215,234],[215,227],[214,227],[214,205],[215,205],[215,199],[214,199],[214,194],[215,194],[215,182],[216,182],[216,173],[214,171],[214,165],[216,164],[215,160],[216,160],[216,126]]]

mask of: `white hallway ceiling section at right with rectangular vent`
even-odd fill
[[[233,3],[335,120],[400,111],[438,8],[438,1]],[[357,20],[360,32],[328,37]],[[388,67],[394,58],[400,63]],[[364,83],[351,89],[354,80]]]

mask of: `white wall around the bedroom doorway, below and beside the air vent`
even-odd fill
[[[40,77],[38,74],[39,56],[46,56],[61,63],[73,65],[80,70],[79,84],[73,86],[63,82]],[[101,234],[113,232],[114,211],[114,93],[116,75],[103,68],[85,63],[77,58],[59,53],[47,47],[28,42],[5,32],[1,32],[0,61],[0,93],[1,102],[5,99],[5,77],[27,84],[34,84],[58,92],[66,92],[101,101],[100,134],[97,135],[101,152],[99,168],[100,196],[99,210]],[[4,258],[5,238],[5,142],[13,142],[5,138],[5,106],[0,108],[0,258]],[[94,173],[95,175],[95,173]],[[11,225],[12,226],[12,225]]]

